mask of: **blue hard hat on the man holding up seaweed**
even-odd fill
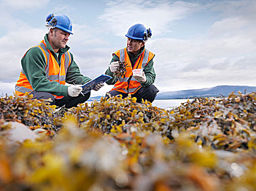
[[[129,28],[126,37],[135,39],[135,40],[143,40],[144,42],[151,38],[152,31],[151,29],[146,29],[144,25],[136,24]]]

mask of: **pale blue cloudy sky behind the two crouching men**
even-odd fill
[[[73,23],[67,45],[81,73],[105,73],[112,53],[126,47],[129,27],[151,28],[160,92],[219,85],[256,86],[255,0],[0,0],[0,95],[12,95],[24,53],[48,32],[45,17]],[[105,96],[106,85],[91,96]]]

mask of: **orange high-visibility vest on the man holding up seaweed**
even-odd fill
[[[136,91],[138,91],[139,88],[141,88],[140,82],[136,81],[135,78],[132,76],[133,75],[133,69],[144,69],[153,59],[155,56],[152,52],[150,52],[147,49],[144,49],[144,51],[141,53],[137,61],[135,62],[133,68],[132,64],[130,63],[130,58],[127,52],[127,48],[121,49],[113,53],[113,55],[116,55],[121,62],[126,61],[127,66],[126,66],[126,75],[118,77],[117,82],[113,86],[112,90],[116,90],[118,92],[122,93],[130,93],[134,94]]]

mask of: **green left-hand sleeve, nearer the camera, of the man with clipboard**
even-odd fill
[[[22,69],[31,86],[38,92],[49,92],[56,96],[67,96],[67,87],[56,81],[49,81],[44,71],[46,62],[43,52],[38,47],[27,51],[21,59]]]

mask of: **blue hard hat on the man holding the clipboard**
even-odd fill
[[[67,17],[66,15],[49,14],[46,17],[46,22],[47,22],[46,26],[53,26],[53,27],[59,28],[63,31],[66,31],[70,34],[73,34],[72,33],[72,22],[69,19],[69,17]]]

